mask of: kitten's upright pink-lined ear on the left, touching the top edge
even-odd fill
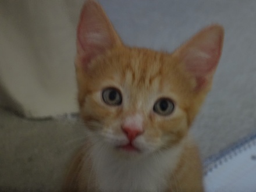
[[[121,44],[99,3],[88,0],[83,6],[77,27],[77,55],[81,61],[77,65],[87,67],[91,59]]]

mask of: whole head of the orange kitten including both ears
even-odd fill
[[[77,28],[76,75],[92,140],[127,154],[179,144],[211,88],[222,43],[223,28],[212,25],[172,54],[126,47],[101,6],[87,1]]]

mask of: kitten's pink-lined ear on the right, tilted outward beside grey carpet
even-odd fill
[[[174,53],[195,80],[195,90],[201,90],[211,84],[221,57],[223,36],[222,26],[209,26],[194,35]]]

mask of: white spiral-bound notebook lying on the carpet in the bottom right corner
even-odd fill
[[[209,159],[206,192],[256,191],[256,135]]]

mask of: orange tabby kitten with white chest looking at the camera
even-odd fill
[[[213,25],[173,54],[126,47],[101,6],[85,3],[77,29],[76,74],[87,140],[66,191],[203,191],[189,127],[222,51]]]

